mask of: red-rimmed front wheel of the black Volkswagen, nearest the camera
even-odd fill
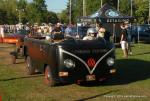
[[[44,82],[46,85],[50,87],[53,87],[56,85],[56,82],[53,78],[52,71],[49,65],[46,66],[45,71],[44,71]]]

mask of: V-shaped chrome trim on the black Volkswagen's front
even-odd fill
[[[98,66],[98,64],[99,64],[108,54],[110,54],[114,49],[115,49],[115,48],[112,48],[112,49],[109,50],[106,54],[104,54],[104,55],[96,62],[95,66],[93,67],[92,70],[90,70],[89,66],[86,64],[86,62],[84,62],[84,60],[82,60],[80,57],[74,55],[73,53],[70,53],[70,52],[68,52],[68,51],[66,51],[66,50],[64,50],[64,49],[62,49],[62,48],[60,48],[60,52],[66,53],[66,54],[68,54],[68,55],[70,55],[70,56],[75,57],[75,58],[78,59],[79,61],[81,61],[81,62],[85,65],[85,67],[87,68],[87,70],[89,71],[89,73],[90,73],[90,74],[93,74],[93,72],[94,72],[94,70],[96,69],[96,67]]]

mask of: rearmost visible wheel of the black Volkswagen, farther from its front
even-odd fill
[[[33,61],[30,56],[27,56],[26,58],[26,69],[29,75],[35,74],[35,68],[33,66]]]

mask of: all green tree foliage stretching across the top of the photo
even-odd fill
[[[76,23],[77,19],[83,16],[83,0],[72,1],[72,23]],[[85,0],[86,15],[91,15],[101,7],[101,0]],[[118,0],[102,0],[103,4],[108,3],[117,8]],[[149,13],[149,0],[120,0],[120,12],[125,15],[131,14],[131,1],[133,2],[133,16],[137,18],[139,23],[147,21]],[[69,0],[67,3],[69,6]],[[17,10],[16,10],[17,9]],[[19,11],[22,10],[24,11]],[[43,23],[58,21],[69,22],[69,7],[60,14],[49,12],[45,0],[0,0],[0,24],[16,24],[19,22],[19,15],[22,23]],[[59,18],[57,17],[59,16]]]

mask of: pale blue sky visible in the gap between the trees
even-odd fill
[[[28,0],[29,2],[31,2],[32,0]],[[49,11],[53,11],[56,13],[61,12],[62,10],[66,9],[66,5],[68,0],[45,0],[46,1],[46,5],[47,5],[47,9]]]

